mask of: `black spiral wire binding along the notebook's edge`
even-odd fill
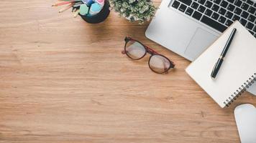
[[[234,92],[234,94],[232,94],[229,97],[229,99],[226,99],[226,101],[224,101],[224,104],[226,105],[226,107],[229,107],[229,105],[232,104],[232,102],[234,102],[234,100],[236,100],[237,97],[242,95],[242,93],[245,92],[247,89],[249,89],[249,87],[252,86],[252,84],[255,82],[256,82],[256,73],[254,73],[252,77],[250,77],[246,82],[244,82],[244,84],[242,84],[242,86],[239,87],[237,91]]]

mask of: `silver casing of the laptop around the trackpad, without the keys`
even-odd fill
[[[173,0],[163,0],[145,35],[180,56],[193,61],[221,32],[173,9]]]

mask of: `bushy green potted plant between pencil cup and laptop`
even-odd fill
[[[155,14],[156,7],[151,0],[109,0],[111,9],[129,21],[142,24],[149,21]]]

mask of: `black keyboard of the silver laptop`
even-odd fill
[[[221,32],[238,20],[256,37],[256,3],[251,0],[175,0],[171,6]]]

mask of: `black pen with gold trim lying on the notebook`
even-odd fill
[[[214,69],[211,71],[211,78],[215,79],[216,75],[218,74],[219,69],[221,68],[221,64],[224,61],[224,57],[227,54],[227,50],[229,50],[229,46],[232,43],[232,40],[234,38],[234,34],[236,34],[237,29],[233,29],[232,33],[229,36],[229,39],[227,40],[226,45],[224,46],[223,51],[221,52],[221,56],[219,56],[218,61],[214,65]]]

